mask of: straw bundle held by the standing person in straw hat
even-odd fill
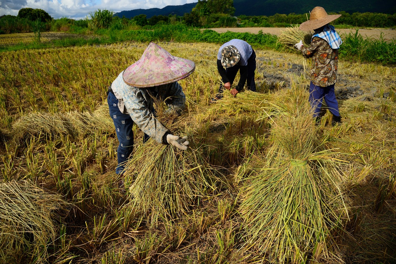
[[[298,26],[293,26],[286,28],[286,30],[282,30],[281,34],[278,36],[278,41],[285,47],[297,53],[300,51],[294,47],[294,44],[302,40],[304,46],[308,47],[311,43],[312,35],[312,31],[302,31]]]

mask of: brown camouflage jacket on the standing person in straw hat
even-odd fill
[[[312,57],[311,81],[314,85],[326,87],[337,82],[338,49],[331,49],[326,40],[314,37],[309,47],[301,47],[301,52]]]

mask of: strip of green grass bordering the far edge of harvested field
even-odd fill
[[[0,48],[2,51],[17,51],[21,49],[44,49],[53,47],[69,47],[82,45],[99,45],[117,43],[120,41],[174,41],[174,42],[207,42],[225,43],[232,39],[245,40],[254,47],[281,50],[278,37],[271,34],[252,34],[248,32],[217,33],[214,30],[188,27],[183,24],[151,26],[150,30],[117,30],[98,29],[93,32],[96,38],[65,38],[50,43],[31,43],[9,45]],[[70,26],[70,33],[88,34],[87,29],[80,26]],[[396,40],[386,42],[382,36],[378,40],[363,38],[358,30],[354,34],[341,36],[343,44],[340,48],[340,58],[360,62],[378,62],[384,65],[396,64]]]

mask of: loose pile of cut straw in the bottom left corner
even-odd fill
[[[0,262],[13,263],[47,256],[47,243],[55,239],[60,195],[49,194],[29,181],[0,183]]]

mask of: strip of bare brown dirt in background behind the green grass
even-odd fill
[[[224,33],[227,31],[231,32],[249,32],[253,34],[259,33],[260,30],[263,30],[263,33],[269,33],[272,35],[279,35],[282,30],[286,28],[209,28],[219,33]],[[354,34],[356,29],[338,29],[339,34]],[[373,29],[359,29],[359,33],[367,38],[376,38],[378,39],[383,34],[383,38],[386,41],[391,41],[396,39],[396,30],[392,29],[384,29],[384,28],[373,28]]]

